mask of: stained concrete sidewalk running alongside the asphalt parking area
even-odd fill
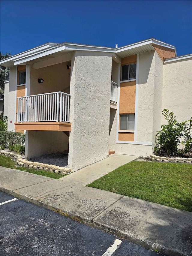
[[[1,191],[166,255],[192,255],[192,212],[1,167]]]

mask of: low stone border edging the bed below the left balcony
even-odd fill
[[[39,170],[45,170],[49,172],[61,173],[61,175],[66,175],[68,173],[71,173],[70,168],[64,168],[64,167],[53,165],[53,164],[43,164],[43,163],[28,161],[26,159],[23,159],[21,155],[6,151],[6,150],[0,150],[0,154],[11,157],[16,162],[16,164],[26,168],[29,167],[35,170],[39,169]]]

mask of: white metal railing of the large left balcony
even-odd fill
[[[17,122],[69,122],[70,94],[52,92],[17,99]]]

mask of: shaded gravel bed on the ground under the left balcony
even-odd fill
[[[68,164],[68,154],[53,153],[31,158],[29,161],[66,167]]]

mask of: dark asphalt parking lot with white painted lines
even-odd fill
[[[14,198],[0,192],[0,203]],[[162,255],[21,199],[0,208],[1,256]]]

